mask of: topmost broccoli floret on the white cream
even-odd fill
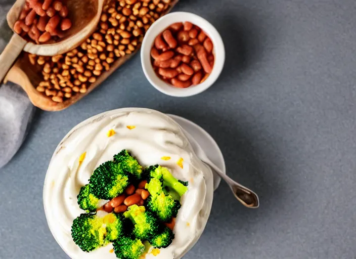
[[[142,166],[127,150],[124,149],[114,155],[114,162],[118,163],[123,171],[133,175],[137,180],[141,179]]]

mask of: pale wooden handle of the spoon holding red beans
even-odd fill
[[[19,34],[14,33],[14,35],[12,35],[8,45],[0,55],[0,82],[3,81],[4,77],[10,70],[17,57],[20,55],[26,43],[27,41]]]

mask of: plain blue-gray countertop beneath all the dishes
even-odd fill
[[[0,258],[68,258],[42,207],[52,153],[80,121],[133,106],[201,125],[228,174],[260,196],[260,208],[247,209],[221,183],[185,258],[356,258],[356,2],[182,0],[174,11],[201,15],[221,33],[218,81],[194,97],[168,97],[136,55],[79,103],[38,110],[0,170]]]

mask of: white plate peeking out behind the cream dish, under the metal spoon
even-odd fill
[[[226,174],[224,156],[222,156],[219,146],[216,144],[215,140],[210,136],[210,134],[207,133],[201,126],[195,124],[194,122],[188,119],[173,114],[167,115],[174,119],[175,122],[180,124],[190,135],[192,135],[192,137],[199,143],[199,145],[205,151],[208,158],[217,167],[219,167],[224,172],[224,174]],[[214,170],[212,170],[212,172],[214,177],[214,190],[216,190],[221,182],[221,178],[216,174]]]

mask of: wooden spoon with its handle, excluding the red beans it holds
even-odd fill
[[[7,15],[7,21],[12,30],[25,2],[26,0],[17,0]],[[17,33],[14,33],[5,50],[0,55],[0,82],[3,81],[5,75],[22,50],[41,56],[55,56],[78,47],[83,40],[95,31],[104,2],[104,0],[68,1],[68,18],[72,22],[72,27],[65,32],[64,38],[58,42],[36,45],[33,42],[26,41]]]

